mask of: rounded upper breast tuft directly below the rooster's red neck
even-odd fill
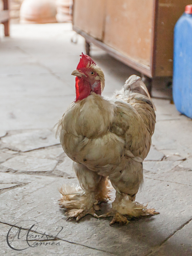
[[[62,128],[69,134],[96,138],[104,135],[114,119],[110,102],[95,93],[73,103],[62,119]]]

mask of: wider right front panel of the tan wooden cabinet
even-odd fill
[[[151,67],[154,0],[106,0],[104,43]]]

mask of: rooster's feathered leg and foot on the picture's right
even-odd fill
[[[135,162],[131,166],[132,169],[125,169],[119,177],[116,174],[116,177],[111,179],[111,183],[116,189],[116,198],[112,203],[112,210],[99,216],[99,218],[113,216],[110,225],[115,222],[128,224],[127,218],[159,214],[159,212],[155,212],[155,209],[147,209],[143,204],[134,201],[143,182],[143,165]]]

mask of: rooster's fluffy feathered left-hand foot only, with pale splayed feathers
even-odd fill
[[[81,187],[70,185],[62,186],[59,192],[61,193],[59,205],[65,209],[67,219],[76,218],[78,222],[87,214],[99,218],[95,211],[100,209],[93,192],[85,192]]]

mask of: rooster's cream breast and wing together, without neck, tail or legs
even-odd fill
[[[129,157],[142,162],[151,145],[151,134],[133,106],[95,93],[70,105],[58,132],[66,154],[92,170],[110,170]]]

